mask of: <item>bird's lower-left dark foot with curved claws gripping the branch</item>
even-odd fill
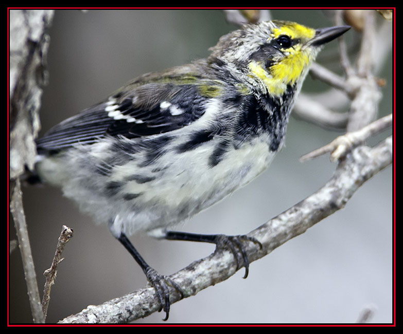
[[[179,292],[179,294],[181,295],[181,299],[183,299],[183,291],[180,288],[180,286],[177,283],[173,282],[168,276],[160,275],[159,273],[156,272],[156,270],[154,270],[151,267],[148,267],[145,273],[148,282],[155,289],[155,292],[157,293],[158,298],[160,300],[161,307],[159,309],[159,312],[161,310],[164,310],[165,318],[163,320],[167,321],[169,318],[169,309],[171,306],[171,303],[169,301],[168,285],[170,285]]]

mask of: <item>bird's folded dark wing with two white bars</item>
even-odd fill
[[[37,140],[38,150],[65,149],[76,143],[92,144],[104,136],[138,138],[177,130],[199,119],[205,110],[208,80],[162,77],[133,81],[129,92],[118,90],[107,101],[51,128]],[[171,82],[173,81],[173,82]],[[217,86],[217,82],[214,83]],[[203,94],[204,91],[204,94]]]

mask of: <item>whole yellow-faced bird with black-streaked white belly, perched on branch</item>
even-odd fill
[[[248,276],[246,235],[173,231],[264,172],[281,151],[292,106],[322,46],[349,26],[247,24],[205,59],[139,76],[37,139],[31,179],[60,187],[109,227],[169,317],[169,286],[128,236],[216,244]],[[240,255],[239,255],[240,254]]]

